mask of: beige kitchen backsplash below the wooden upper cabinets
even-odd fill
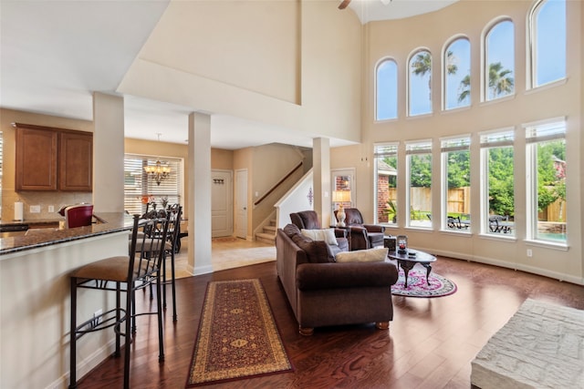
[[[15,202],[24,203],[25,220],[62,220],[63,217],[57,213],[64,205],[78,204],[81,202],[91,202],[93,195],[90,192],[42,192],[24,191],[15,192],[3,190],[2,192],[2,221],[12,221],[15,217]],[[38,206],[38,212],[31,212],[31,206]],[[53,207],[49,211],[49,207]]]

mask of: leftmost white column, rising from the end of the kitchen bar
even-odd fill
[[[124,99],[93,94],[93,206],[124,210]]]

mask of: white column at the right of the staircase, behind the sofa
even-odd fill
[[[315,138],[312,140],[312,171],[314,190],[314,210],[322,228],[330,224],[330,140]]]

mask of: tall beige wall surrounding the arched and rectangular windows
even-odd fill
[[[568,65],[567,80],[553,87],[526,91],[526,15],[531,2],[461,1],[441,11],[403,20],[373,22],[366,26],[365,71],[362,117],[363,142],[360,146],[332,150],[331,168],[355,167],[357,171],[357,206],[364,210],[368,220],[373,220],[373,163],[375,142],[399,141],[399,186],[401,204],[405,199],[404,142],[422,138],[433,139],[433,171],[440,171],[439,141],[441,137],[472,134],[471,207],[473,215],[480,214],[480,159],[479,131],[509,126],[516,128],[516,239],[486,238],[474,227],[471,236],[432,231],[404,229],[403,221],[391,234],[405,233],[412,246],[443,253],[456,258],[494,263],[515,269],[533,271],[560,280],[584,283],[584,260],[581,241],[583,217],[582,167],[584,141],[581,137],[582,106],[584,102],[584,5],[568,1]],[[511,17],[516,32],[516,95],[503,101],[481,103],[479,96],[480,37],[485,26],[499,15]],[[457,34],[468,36],[471,42],[472,106],[451,112],[441,111],[440,53],[445,42]],[[425,46],[433,53],[433,114],[420,118],[406,118],[407,57],[412,51]],[[381,58],[391,56],[398,64],[399,105],[398,119],[374,121],[374,69]],[[546,118],[566,117],[568,159],[568,250],[553,249],[549,245],[530,245],[526,237],[526,163],[525,132],[522,123]],[[367,160],[365,160],[367,159]],[[433,214],[440,215],[440,175],[433,175]],[[400,220],[405,220],[405,210],[400,210]],[[533,257],[527,257],[527,248]]]

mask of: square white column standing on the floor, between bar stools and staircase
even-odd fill
[[[189,253],[187,270],[204,274],[211,265],[211,117],[189,115]]]

